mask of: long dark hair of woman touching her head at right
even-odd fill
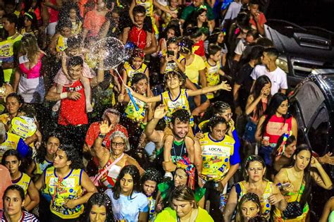
[[[309,202],[309,199],[311,197],[311,158],[312,158],[312,150],[311,148],[307,145],[307,144],[301,144],[297,147],[297,149],[295,150],[295,153],[292,155],[295,157],[295,159],[297,159],[297,154],[299,154],[302,151],[308,151],[310,154],[310,160],[309,160],[309,164],[307,164],[306,168],[304,168],[304,176],[303,176],[303,180],[304,180],[304,192],[302,194],[302,197],[300,198],[299,203],[302,206],[302,209],[304,208],[304,205],[307,204],[307,202]],[[295,166],[295,160],[294,158],[292,158],[292,161],[290,162],[290,164],[287,164],[287,166],[283,166],[284,168],[292,168]],[[298,188],[298,187],[297,187]]]

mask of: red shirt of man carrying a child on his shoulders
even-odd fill
[[[85,90],[80,80],[72,85],[63,86],[63,92],[79,92],[80,99],[61,99],[61,111],[58,117],[59,125],[80,125],[88,124],[86,113]]]

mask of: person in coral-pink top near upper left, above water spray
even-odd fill
[[[87,37],[92,39],[99,38],[99,31],[102,25],[106,22],[106,0],[97,0],[97,8],[89,11],[85,15],[83,23],[84,30],[82,32],[82,41],[85,42]]]

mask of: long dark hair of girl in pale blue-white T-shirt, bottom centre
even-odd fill
[[[130,199],[132,199],[132,194],[133,192],[140,192],[140,172],[138,168],[134,165],[127,165],[122,168],[120,171],[120,174],[117,177],[115,186],[111,188],[113,190],[113,199],[119,199],[120,198],[120,180],[124,178],[124,175],[128,173],[132,177],[132,183],[133,183],[133,188],[130,194]]]

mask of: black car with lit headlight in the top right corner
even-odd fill
[[[295,87],[312,69],[334,68],[334,1],[266,1],[265,35],[280,51],[277,65]]]

